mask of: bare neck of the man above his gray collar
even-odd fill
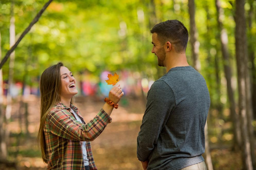
[[[169,57],[166,56],[166,72],[174,67],[189,66],[185,53],[174,54]]]

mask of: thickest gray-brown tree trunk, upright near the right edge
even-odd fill
[[[253,170],[252,163],[252,147],[250,140],[250,107],[251,101],[248,100],[248,68],[247,68],[247,41],[246,41],[246,23],[244,16],[244,0],[236,0],[235,10],[235,45],[236,45],[236,65],[237,65],[237,78],[238,78],[238,90],[239,90],[239,115],[241,120],[241,133],[242,133],[242,160],[244,169]],[[250,84],[249,84],[250,86]],[[248,90],[248,92],[247,92]]]

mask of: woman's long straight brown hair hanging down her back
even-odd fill
[[[63,66],[62,62],[48,67],[41,75],[40,78],[40,126],[37,135],[37,141],[40,143],[43,162],[47,163],[45,135],[43,128],[45,127],[45,120],[47,114],[56,103],[60,102],[61,92],[61,77],[60,67]],[[40,141],[40,142],[39,142]]]

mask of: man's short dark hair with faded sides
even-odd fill
[[[156,24],[150,32],[157,34],[157,39],[164,45],[169,41],[176,52],[186,50],[188,44],[188,30],[184,24],[176,19]]]

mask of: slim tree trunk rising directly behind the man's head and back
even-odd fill
[[[189,15],[190,15],[190,42],[192,46],[192,60],[194,68],[200,72],[201,65],[198,59],[198,52],[199,52],[199,42],[197,41],[197,30],[196,30],[196,23],[195,23],[195,3],[194,0],[188,1],[188,8],[189,8]],[[207,132],[206,132],[207,131]],[[206,150],[206,165],[208,170],[213,170],[213,163],[211,161],[210,155],[210,147],[208,141],[208,125],[206,122],[205,126],[205,150]]]

